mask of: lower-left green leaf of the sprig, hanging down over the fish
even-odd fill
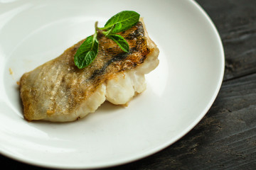
[[[99,48],[97,33],[86,38],[78,48],[74,56],[75,65],[79,68],[85,68],[95,60]]]

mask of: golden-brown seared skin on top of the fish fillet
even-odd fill
[[[23,74],[20,92],[24,117],[44,120],[56,113],[68,115],[90,98],[102,83],[114,79],[117,73],[139,67],[152,52],[142,22],[119,34],[129,43],[129,53],[99,34],[98,55],[85,69],[78,69],[74,64],[74,55],[82,40],[60,57]]]

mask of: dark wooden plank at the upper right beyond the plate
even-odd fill
[[[256,1],[198,0],[218,28],[225,49],[225,80],[256,72]]]

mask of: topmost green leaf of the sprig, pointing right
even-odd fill
[[[107,21],[102,30],[110,30],[114,24],[119,23],[112,33],[119,33],[135,26],[139,21],[139,13],[135,11],[121,11]]]

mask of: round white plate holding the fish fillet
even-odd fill
[[[7,157],[62,169],[132,162],[180,139],[218,94],[223,47],[194,1],[0,1],[0,149]],[[160,64],[147,75],[146,91],[127,108],[104,103],[73,123],[24,120],[21,75],[92,34],[95,21],[103,26],[123,10],[140,13],[159,45]]]

